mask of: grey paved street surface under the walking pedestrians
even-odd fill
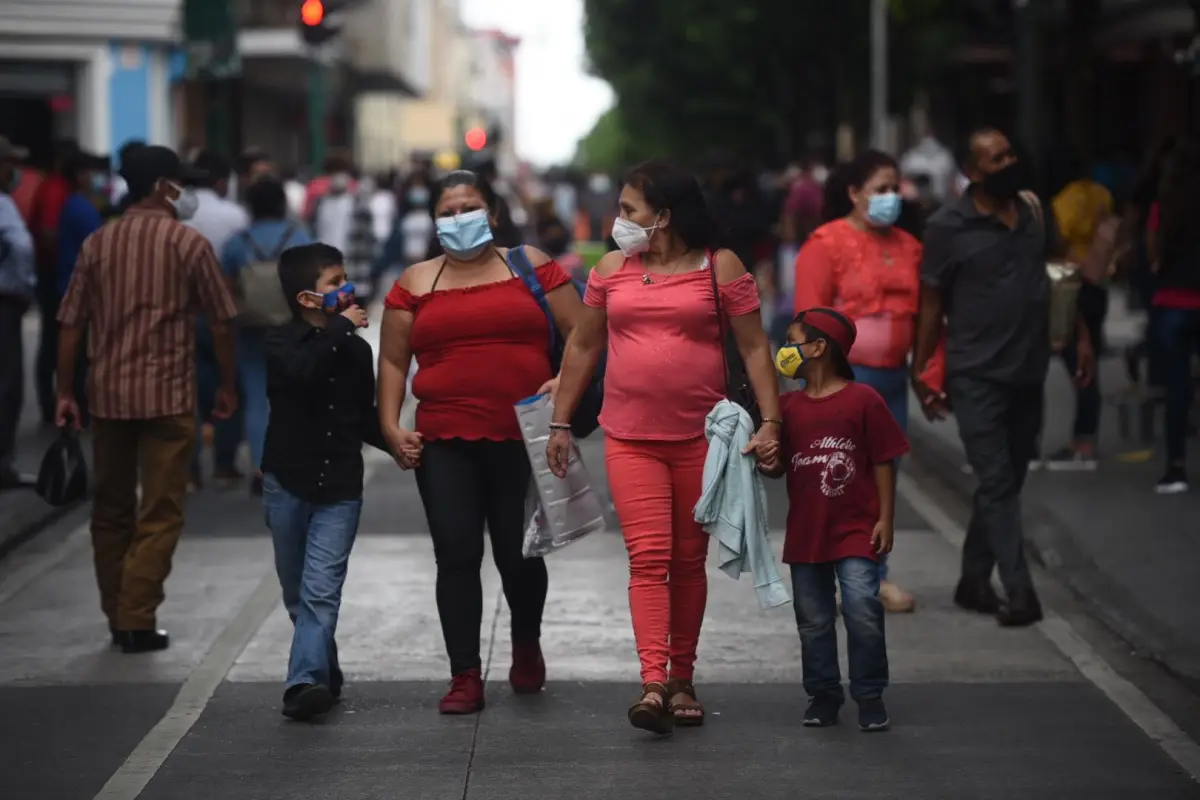
[[[601,445],[586,443],[584,459],[602,486]],[[508,613],[485,565],[488,706],[442,717],[427,525],[412,476],[370,463],[338,631],[349,682],[320,724],[278,712],[290,630],[248,494],[191,495],[166,652],[109,650],[84,511],[0,561],[0,798],[1200,798],[1194,696],[1044,576],[1054,610],[1039,627],[958,610],[962,510],[917,471],[893,560],[918,610],[888,618],[892,732],[862,734],[852,715],[800,727],[791,608],[758,610],[746,579],[715,569],[697,673],[708,724],[667,740],[630,728],[637,660],[616,529],[548,561],[550,684],[536,697],[508,688]],[[770,509],[778,546],[779,485]]]

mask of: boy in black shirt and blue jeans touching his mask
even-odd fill
[[[280,255],[293,320],[266,336],[270,419],[263,505],[283,604],[295,625],[283,714],[311,720],[342,692],[334,632],[362,509],[362,444],[386,451],[374,405],[367,313],[328,245]]]

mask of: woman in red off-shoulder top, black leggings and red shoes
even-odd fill
[[[484,528],[512,613],[517,692],[546,679],[539,637],[546,566],[521,554],[530,467],[512,405],[556,389],[550,326],[529,289],[492,239],[497,198],[474,173],[446,175],[431,211],[445,255],[414,264],[386,299],[379,341],[379,422],[401,464],[416,469],[437,559],[438,615],[452,680],[443,714],[484,708],[479,633],[484,614],[479,570]],[[562,335],[582,302],[563,270],[527,248]],[[412,359],[420,401],[416,429],[400,427]]]

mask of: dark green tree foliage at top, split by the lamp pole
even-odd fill
[[[940,68],[956,4],[892,0],[892,102]],[[866,128],[870,0],[584,0],[592,68],[630,142],[677,156],[791,156],[812,132]]]

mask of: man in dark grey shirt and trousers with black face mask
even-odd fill
[[[1050,365],[1052,219],[1022,190],[1021,166],[1003,133],[974,132],[962,164],[971,187],[930,217],[920,266],[913,387],[926,415],[954,409],[979,486],[954,601],[996,614],[1001,625],[1042,619],[1021,527],[1020,493],[1042,428]],[[1027,198],[1027,199],[1026,199]],[[946,395],[920,378],[942,329]],[[1078,379],[1090,380],[1092,348],[1080,331]],[[1000,570],[1006,600],[991,587]]]

